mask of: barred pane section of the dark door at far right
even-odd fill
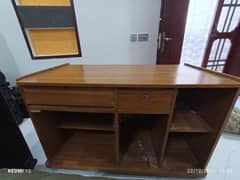
[[[223,72],[240,20],[240,0],[220,0],[213,22],[203,66]]]

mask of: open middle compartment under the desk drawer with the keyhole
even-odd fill
[[[168,115],[120,115],[121,161],[158,168],[163,158]]]

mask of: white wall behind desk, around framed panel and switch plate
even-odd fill
[[[6,41],[21,75],[64,62],[154,64],[160,1],[74,0],[81,58],[32,60],[10,0],[0,1],[0,35]],[[130,42],[129,35],[138,32],[149,33],[149,41]]]

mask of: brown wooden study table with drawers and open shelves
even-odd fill
[[[191,65],[64,64],[17,79],[50,168],[204,177],[237,77]]]

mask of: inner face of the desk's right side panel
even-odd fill
[[[186,136],[192,152],[205,168],[216,147],[225,123],[229,119],[238,98],[238,89],[189,89],[185,100],[213,129],[201,136]]]

